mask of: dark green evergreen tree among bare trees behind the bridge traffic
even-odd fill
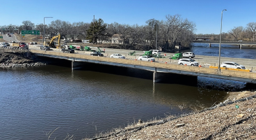
[[[102,42],[107,39],[106,31],[107,25],[104,24],[104,21],[102,19],[96,19],[94,22],[91,22],[87,30],[86,39],[88,39],[90,43]]]

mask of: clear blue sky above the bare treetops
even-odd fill
[[[196,34],[220,34],[238,26],[256,22],[255,0],[0,0],[0,26],[22,25],[30,20],[35,25],[50,24],[53,20],[145,25],[148,19],[166,20],[166,15],[181,15],[196,24]]]

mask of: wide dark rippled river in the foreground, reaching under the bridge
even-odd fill
[[[196,47],[191,49],[196,54],[196,50],[205,50]],[[72,72],[56,65],[0,70],[1,139],[47,139],[52,131],[50,139],[65,139],[68,134],[76,139],[92,137],[139,119],[211,107],[227,98],[227,90],[244,87],[243,82],[204,77],[198,77],[198,86],[154,84],[150,72],[95,68],[99,72],[94,68]],[[111,74],[109,69],[119,74]]]

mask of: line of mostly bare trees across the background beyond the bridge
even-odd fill
[[[106,24],[103,19],[93,19],[92,22],[74,22],[54,20],[45,25],[45,34],[71,39],[87,39],[90,43],[109,42],[113,35],[119,35],[122,47],[125,49],[162,49],[172,51],[175,45],[190,47],[196,36],[207,36],[211,40],[219,40],[219,35],[195,35],[196,25],[180,15],[166,15],[165,20],[149,19],[145,25]],[[44,24],[35,25],[29,20],[24,20],[21,26],[0,26],[1,33],[20,33],[21,30],[39,30],[44,32]],[[250,22],[246,27],[234,27],[228,33],[222,33],[221,40],[255,41],[256,22]]]

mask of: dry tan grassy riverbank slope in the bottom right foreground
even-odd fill
[[[256,93],[229,94],[225,104],[212,109],[163,120],[138,121],[93,139],[256,139]]]

